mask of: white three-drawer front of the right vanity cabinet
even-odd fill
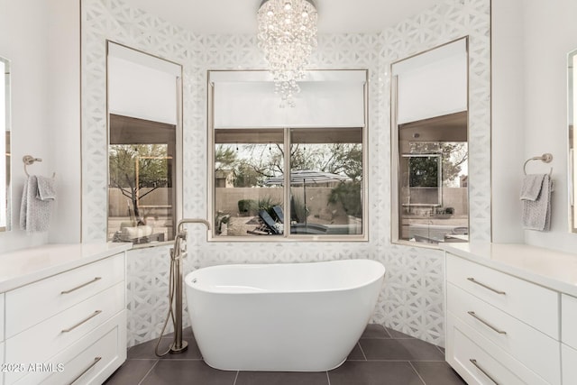
[[[447,253],[446,298],[446,359],[469,384],[561,383],[558,293]]]

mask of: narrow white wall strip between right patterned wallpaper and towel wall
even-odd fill
[[[525,156],[524,1],[491,4],[491,230],[495,243],[524,242],[518,200]]]

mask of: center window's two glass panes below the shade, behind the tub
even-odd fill
[[[214,153],[216,236],[363,234],[362,128],[216,129]]]

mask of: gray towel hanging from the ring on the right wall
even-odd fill
[[[531,174],[523,180],[520,196],[524,229],[537,231],[550,229],[552,188],[553,183],[548,174]]]

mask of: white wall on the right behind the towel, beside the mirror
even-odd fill
[[[554,205],[550,233],[526,232],[526,243],[575,252],[577,234],[568,233],[567,215],[567,53],[577,48],[577,2],[558,0],[525,5],[525,158],[551,152]],[[532,170],[548,165],[532,164]]]

